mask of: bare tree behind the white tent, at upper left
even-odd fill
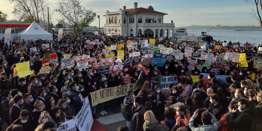
[[[12,13],[19,21],[47,22],[48,4],[45,0],[10,0],[10,2],[15,3]]]

